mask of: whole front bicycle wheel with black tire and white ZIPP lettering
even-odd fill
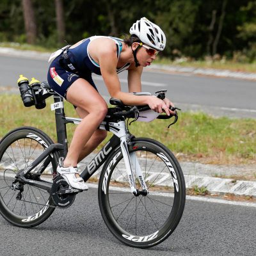
[[[117,239],[128,246],[148,248],[162,243],[179,224],[186,200],[186,185],[179,162],[158,141],[134,138],[129,152],[136,152],[148,195],[132,195],[119,147],[102,168],[99,207],[103,220]],[[136,188],[141,189],[137,179]]]

